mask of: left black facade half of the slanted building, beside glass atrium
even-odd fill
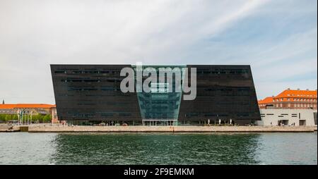
[[[122,93],[130,65],[51,65],[59,120],[141,120],[136,93]]]

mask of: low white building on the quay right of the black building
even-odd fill
[[[260,113],[261,121],[257,125],[317,125],[317,110],[313,109],[260,109]]]

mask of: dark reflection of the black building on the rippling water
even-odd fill
[[[259,134],[59,134],[53,163],[254,164]]]

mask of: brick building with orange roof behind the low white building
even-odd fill
[[[284,90],[277,96],[259,100],[259,109],[315,109],[317,90]]]

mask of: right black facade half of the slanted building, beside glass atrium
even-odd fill
[[[187,66],[196,68],[196,99],[181,101],[179,121],[260,121],[250,66]],[[190,76],[189,76],[190,81]]]

